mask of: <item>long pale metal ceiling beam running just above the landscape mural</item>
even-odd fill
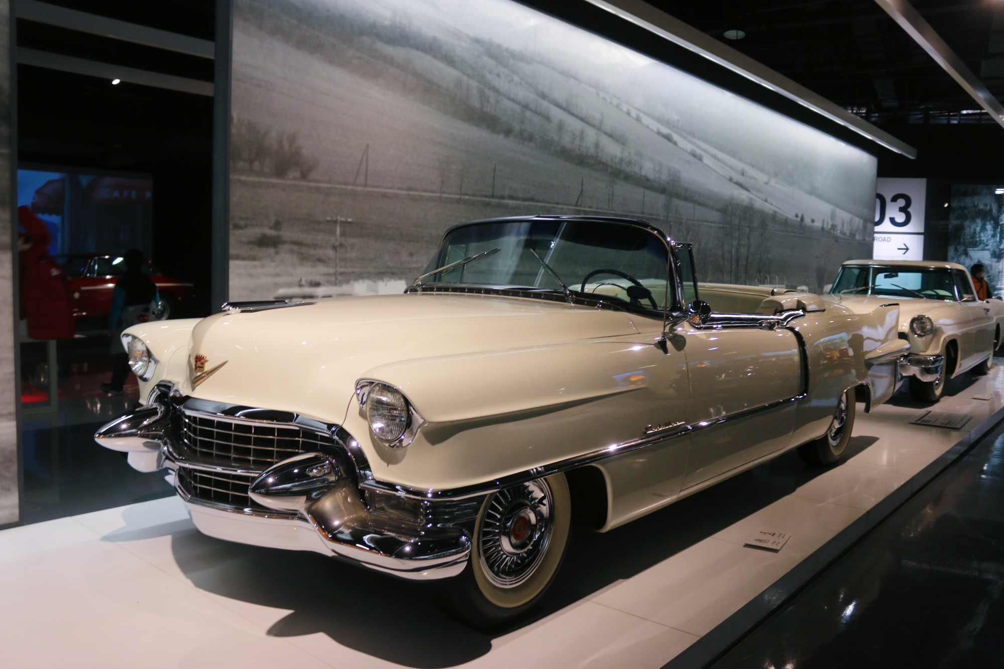
[[[890,150],[902,153],[907,157],[917,157],[917,149],[905,141],[897,139],[889,132],[875,127],[859,116],[855,116],[835,102],[827,100],[822,95],[792,81],[780,72],[775,72],[763,63],[726,46],[714,37],[670,16],[647,2],[642,0],[586,1],[794,100]]]

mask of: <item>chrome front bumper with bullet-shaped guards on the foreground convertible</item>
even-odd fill
[[[405,579],[445,579],[460,574],[471,552],[479,500],[416,501],[393,493],[363,490],[372,481],[368,463],[354,439],[337,425],[325,425],[344,452],[309,452],[288,457],[264,471],[210,464],[186,458],[179,443],[179,412],[187,398],[158,401],[101,427],[94,440],[129,453],[140,471],[171,469],[178,494],[204,534],[253,546],[314,551]],[[197,401],[197,400],[196,400]],[[223,418],[247,422],[264,415],[262,424],[303,423],[295,414],[231,407]],[[255,413],[255,412],[259,413]],[[250,420],[259,420],[251,418]],[[185,489],[182,472],[232,475],[242,472],[251,483],[248,508],[199,498]],[[393,486],[386,486],[393,487]],[[458,507],[463,504],[463,508]],[[250,508],[260,505],[261,508]],[[472,513],[473,512],[473,513]]]

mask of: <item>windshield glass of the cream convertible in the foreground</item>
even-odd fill
[[[463,226],[449,234],[426,272],[465,259],[467,264],[420,277],[420,283],[567,290],[660,310],[667,293],[673,302],[666,245],[629,224],[534,220]]]

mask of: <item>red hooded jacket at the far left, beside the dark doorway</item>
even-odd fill
[[[69,284],[49,256],[49,229],[28,207],[17,208],[17,267],[21,318],[32,339],[71,339],[76,330]]]

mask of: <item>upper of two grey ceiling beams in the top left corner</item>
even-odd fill
[[[106,16],[88,14],[75,9],[50,5],[38,0],[17,0],[15,3],[17,18],[45,23],[59,28],[78,30],[101,37],[110,37],[124,42],[144,44],[159,49],[187,53],[191,56],[213,58],[215,48],[213,42],[198,37],[180,35],[158,28],[151,28],[136,23],[128,23]]]

